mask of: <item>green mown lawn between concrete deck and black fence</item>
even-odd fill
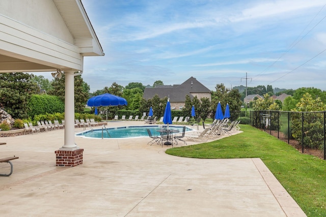
[[[308,216],[326,216],[326,162],[256,128],[240,127],[243,133],[166,152],[187,158],[260,158]]]

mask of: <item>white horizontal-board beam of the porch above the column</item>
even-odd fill
[[[77,46],[2,15],[0,48],[37,64],[83,70],[83,55]]]

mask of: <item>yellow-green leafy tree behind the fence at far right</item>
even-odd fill
[[[294,112],[291,115],[291,129],[293,138],[297,139],[302,144],[304,139],[304,147],[321,148],[323,146],[323,112],[311,111],[325,111],[326,106],[320,98],[314,99],[309,93],[303,95],[300,101],[296,104]],[[302,129],[302,122],[304,129]],[[302,135],[304,133],[304,135]],[[303,137],[302,137],[303,136]]]

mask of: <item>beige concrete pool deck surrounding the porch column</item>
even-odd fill
[[[1,216],[306,216],[258,158],[180,158],[149,137],[75,137],[83,165],[57,167],[64,130],[0,140],[0,158],[19,157],[13,174],[0,176]]]

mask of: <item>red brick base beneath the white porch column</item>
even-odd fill
[[[74,167],[83,164],[83,148],[76,150],[56,150],[56,166]]]

